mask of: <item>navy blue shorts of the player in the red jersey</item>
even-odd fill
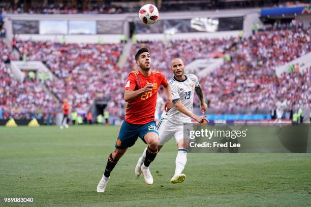
[[[155,121],[150,121],[146,124],[130,124],[126,121],[123,121],[118,138],[115,143],[115,148],[125,149],[128,147],[132,147],[137,138],[140,137],[144,143],[144,136],[148,132],[155,132],[159,135],[157,126],[155,126]]]

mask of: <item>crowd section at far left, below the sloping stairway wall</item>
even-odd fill
[[[43,113],[55,112],[55,100],[47,94],[39,82],[25,79],[17,81],[5,61],[10,57],[6,44],[0,43],[0,108],[2,117],[40,117]],[[13,58],[14,59],[14,58]]]

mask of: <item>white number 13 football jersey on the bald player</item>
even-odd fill
[[[185,80],[179,81],[173,77],[169,84],[173,101],[179,99],[182,105],[192,112],[195,87],[199,85],[198,78],[193,74],[186,74]],[[162,117],[176,124],[191,123],[191,118],[179,112],[174,104],[170,111],[163,112]]]

